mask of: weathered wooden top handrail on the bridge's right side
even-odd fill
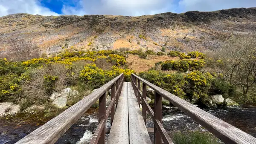
[[[138,93],[138,97],[141,97],[141,92],[137,89],[137,86],[135,84],[137,83],[136,80],[140,80],[143,84],[149,86],[151,89],[155,91],[155,95],[158,94],[160,97],[163,97],[170,101],[173,105],[178,107],[181,111],[185,112],[187,115],[189,115],[194,121],[196,121],[198,124],[201,124],[203,127],[205,127],[209,132],[214,134],[217,138],[219,138],[221,141],[223,141],[226,144],[256,144],[256,138],[254,138],[252,135],[247,134],[246,132],[232,126],[231,124],[226,123],[225,121],[222,121],[221,119],[209,114],[208,112],[205,112],[203,109],[200,109],[198,107],[195,107],[194,105],[190,104],[189,102],[171,94],[170,92],[167,92],[164,89],[161,89],[158,86],[155,86],[154,84],[151,84],[150,82],[144,80],[143,78],[138,77],[137,75],[132,74],[131,75],[132,84],[136,88],[136,92]],[[135,83],[135,84],[134,84]],[[146,88],[144,87],[143,92]],[[145,94],[144,94],[145,95]],[[149,114],[153,115],[153,111],[151,111],[150,107],[146,103],[146,99],[143,97],[143,109],[147,109],[149,111]],[[155,102],[156,104],[156,102]],[[156,110],[156,109],[155,109]],[[154,115],[155,116],[155,115]],[[144,117],[144,115],[143,115]],[[153,119],[153,118],[152,118]],[[154,124],[157,122],[153,120]],[[157,125],[159,127],[160,124]],[[162,130],[162,128],[157,128],[157,130]],[[162,131],[163,132],[163,131]],[[161,133],[161,137],[163,138],[163,134]],[[166,139],[163,138],[163,140]],[[168,143],[168,141],[165,141],[165,143]]]

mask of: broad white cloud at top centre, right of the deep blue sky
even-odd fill
[[[169,12],[173,0],[80,0],[75,7],[64,7],[64,14],[107,14],[139,16]]]

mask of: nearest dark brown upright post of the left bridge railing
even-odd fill
[[[105,119],[106,116],[106,95],[107,92],[99,98],[99,123],[101,120]],[[99,138],[99,144],[105,144],[105,132],[106,132],[106,124],[104,124],[104,128]]]

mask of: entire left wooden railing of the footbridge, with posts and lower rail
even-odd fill
[[[99,125],[90,144],[105,144],[106,121],[111,113],[113,122],[116,106],[121,93],[124,75],[121,74],[109,81],[95,92],[83,98],[72,107],[48,121],[43,126],[22,138],[16,144],[54,144],[58,139],[99,99]],[[106,109],[106,96],[111,88],[111,102]]]

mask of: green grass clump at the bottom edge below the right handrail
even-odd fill
[[[219,144],[209,132],[176,132],[172,140],[174,144]]]

